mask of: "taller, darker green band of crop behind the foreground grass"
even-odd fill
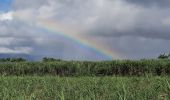
[[[145,76],[170,75],[170,60],[1,62],[0,75]]]

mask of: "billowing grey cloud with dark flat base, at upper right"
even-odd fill
[[[88,33],[102,36],[137,36],[145,38],[170,39],[169,8],[144,8],[131,4],[120,4],[116,12],[106,10]]]

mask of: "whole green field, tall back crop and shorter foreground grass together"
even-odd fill
[[[170,61],[1,62],[3,100],[170,100]]]

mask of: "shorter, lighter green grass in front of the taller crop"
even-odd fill
[[[3,100],[170,100],[169,77],[0,77]]]

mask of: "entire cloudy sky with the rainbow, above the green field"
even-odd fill
[[[0,0],[0,54],[71,60],[170,52],[170,0]]]

